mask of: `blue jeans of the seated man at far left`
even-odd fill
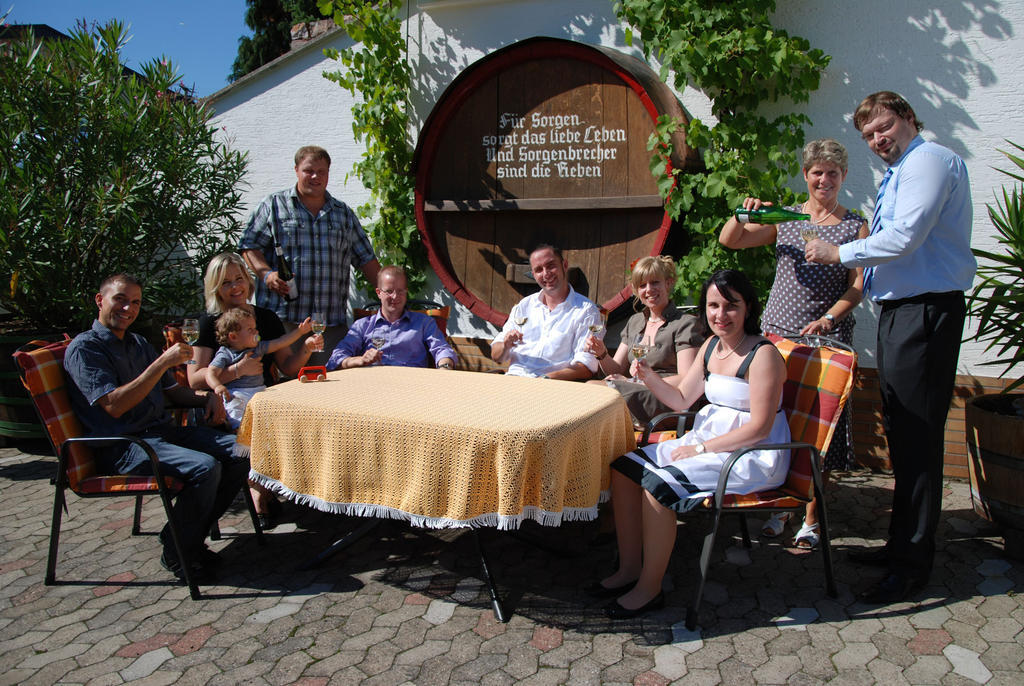
[[[232,454],[234,436],[206,426],[156,426],[138,436],[157,452],[161,471],[185,482],[174,503],[186,552],[204,545],[207,532],[224,514],[249,477],[249,460]],[[115,460],[121,474],[153,474],[150,458],[131,445]],[[164,551],[177,559],[167,526],[161,533]]]

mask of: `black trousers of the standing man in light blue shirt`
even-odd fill
[[[884,301],[878,362],[883,421],[893,464],[890,566],[927,580],[942,502],[946,414],[966,317],[964,294]]]

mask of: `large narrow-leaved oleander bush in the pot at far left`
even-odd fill
[[[111,22],[0,50],[0,306],[44,327],[87,325],[117,271],[150,311],[200,309],[202,270],[240,232],[245,155],[172,65],[125,70],[126,39]]]

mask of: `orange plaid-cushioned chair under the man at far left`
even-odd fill
[[[182,570],[188,592],[194,600],[199,600],[199,587],[193,578],[191,565],[181,546],[181,534],[177,521],[171,510],[171,498],[178,494],[184,482],[180,479],[165,476],[134,476],[125,474],[103,474],[97,470],[93,459],[93,445],[110,445],[117,442],[132,442],[145,451],[153,466],[153,473],[159,474],[160,461],[150,445],[133,436],[86,436],[85,429],[78,417],[72,411],[68,396],[67,376],[63,371],[63,357],[71,343],[71,338],[65,335],[57,342],[33,341],[14,353],[14,359],[22,369],[22,382],[28,389],[39,413],[39,418],[46,427],[47,437],[57,456],[57,473],[55,478],[55,495],[53,498],[53,522],[50,528],[49,556],[46,561],[46,576],[44,582],[53,585],[56,578],[57,541],[60,535],[61,509],[67,510],[65,489],[71,488],[81,498],[135,498],[135,512],[132,519],[132,535],[141,530],[142,497],[160,496],[170,523],[171,538],[178,559],[182,561]],[[255,509],[248,489],[243,489],[247,497],[250,513]],[[255,514],[253,514],[255,521]],[[257,525],[257,538],[261,540],[261,531]]]

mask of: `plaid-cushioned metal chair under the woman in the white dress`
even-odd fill
[[[746,528],[746,514],[803,511],[807,504],[817,498],[818,522],[821,532],[821,553],[824,560],[825,592],[836,596],[836,581],[833,572],[831,544],[828,538],[828,517],[821,482],[821,459],[828,449],[836,423],[843,413],[843,406],[853,389],[857,368],[857,353],[835,341],[819,339],[820,345],[801,343],[778,336],[769,336],[785,359],[786,381],[782,387],[782,409],[790,424],[793,442],[762,444],[741,447],[729,456],[722,467],[714,497],[708,497],[700,510],[711,515],[710,530],[705,537],[700,551],[700,578],[697,583],[693,604],[686,611],[686,628],[696,627],[697,609],[703,596],[705,582],[711,553],[715,547],[715,537],[723,513],[740,515],[740,531],[743,545],[751,547]],[[691,413],[671,413],[651,420],[639,444],[650,441],[651,427],[676,415]],[[664,440],[664,438],[663,438]],[[725,492],[729,474],[736,461],[754,449],[790,448],[790,472],[782,485],[770,490],[746,495]],[[700,511],[697,510],[697,511]]]

